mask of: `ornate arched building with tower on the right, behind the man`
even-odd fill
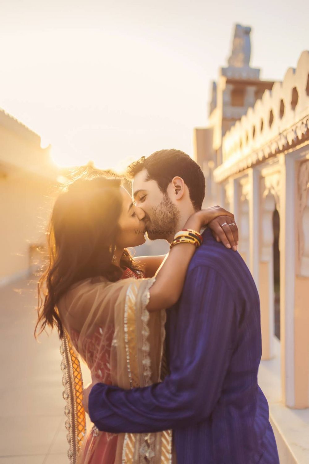
[[[236,26],[209,127],[195,129],[195,159],[205,203],[235,215],[239,251],[259,290],[259,380],[280,462],[309,462],[309,52],[282,82],[258,81],[248,31]]]

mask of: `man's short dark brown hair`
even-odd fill
[[[172,148],[156,151],[147,157],[142,156],[127,168],[126,178],[132,180],[144,169],[148,172],[146,180],[155,180],[163,193],[166,193],[174,177],[181,177],[189,189],[190,200],[195,211],[202,209],[205,177],[200,166],[189,155]]]

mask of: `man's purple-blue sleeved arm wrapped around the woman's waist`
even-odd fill
[[[236,334],[233,295],[221,275],[196,267],[187,276],[177,359],[164,382],[122,390],[96,384],[89,415],[106,432],[157,432],[207,418],[218,401]]]

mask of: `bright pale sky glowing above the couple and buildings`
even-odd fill
[[[304,0],[0,0],[0,14],[0,107],[51,143],[60,166],[192,155],[236,23],[252,27],[263,79],[282,80],[309,50]]]

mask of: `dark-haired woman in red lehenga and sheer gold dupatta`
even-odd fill
[[[36,330],[56,326],[62,339],[72,463],[171,462],[171,431],[115,435],[94,427],[82,445],[85,413],[76,351],[101,382],[133,388],[162,380],[164,309],[181,295],[201,243],[198,232],[219,215],[220,223],[232,216],[222,209],[194,213],[166,258],[133,260],[126,247],[145,242],[144,214],[120,180],[81,178],[57,198],[49,227],[50,263],[38,286],[43,298]]]

